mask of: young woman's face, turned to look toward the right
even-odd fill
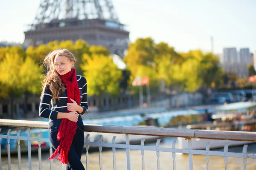
[[[65,56],[57,56],[54,59],[54,66],[58,74],[64,75],[71,71],[72,66],[75,64],[74,61],[70,62]]]

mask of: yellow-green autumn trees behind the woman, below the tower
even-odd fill
[[[20,96],[26,92],[40,94],[42,74],[46,69],[42,65],[44,57],[58,48],[66,48],[74,54],[77,60],[76,73],[78,75],[83,75],[84,71],[87,73],[89,89],[93,89],[91,83],[97,82],[92,93],[88,94],[119,93],[122,71],[108,57],[110,54],[108,49],[103,46],[89,46],[84,40],[76,40],[74,43],[67,40],[52,41],[37,47],[30,46],[26,51],[21,47],[0,48],[0,97]],[[87,59],[90,59],[89,62]],[[88,74],[90,72],[96,73],[97,76],[91,76]]]

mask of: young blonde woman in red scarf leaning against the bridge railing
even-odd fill
[[[49,118],[49,139],[55,149],[49,159],[56,158],[67,164],[67,170],[84,170],[81,115],[88,111],[87,81],[76,75],[75,62],[74,55],[67,49],[54,50],[45,57],[47,75],[43,81],[39,116]]]

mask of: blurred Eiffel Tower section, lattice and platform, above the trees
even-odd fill
[[[24,33],[26,46],[81,39],[106,46],[119,56],[129,42],[129,32],[119,22],[111,0],[41,0],[34,22]]]

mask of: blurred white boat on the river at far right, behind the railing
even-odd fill
[[[212,114],[213,122],[206,122],[195,125],[187,125],[187,129],[196,130],[230,130],[230,131],[256,131],[256,102],[238,102],[222,105],[215,108]],[[250,112],[252,111],[252,112]],[[230,141],[214,139],[192,139],[192,149],[205,150],[210,142],[210,149],[223,148],[228,146],[239,146],[255,142]],[[188,149],[188,140],[178,138],[180,148]]]

